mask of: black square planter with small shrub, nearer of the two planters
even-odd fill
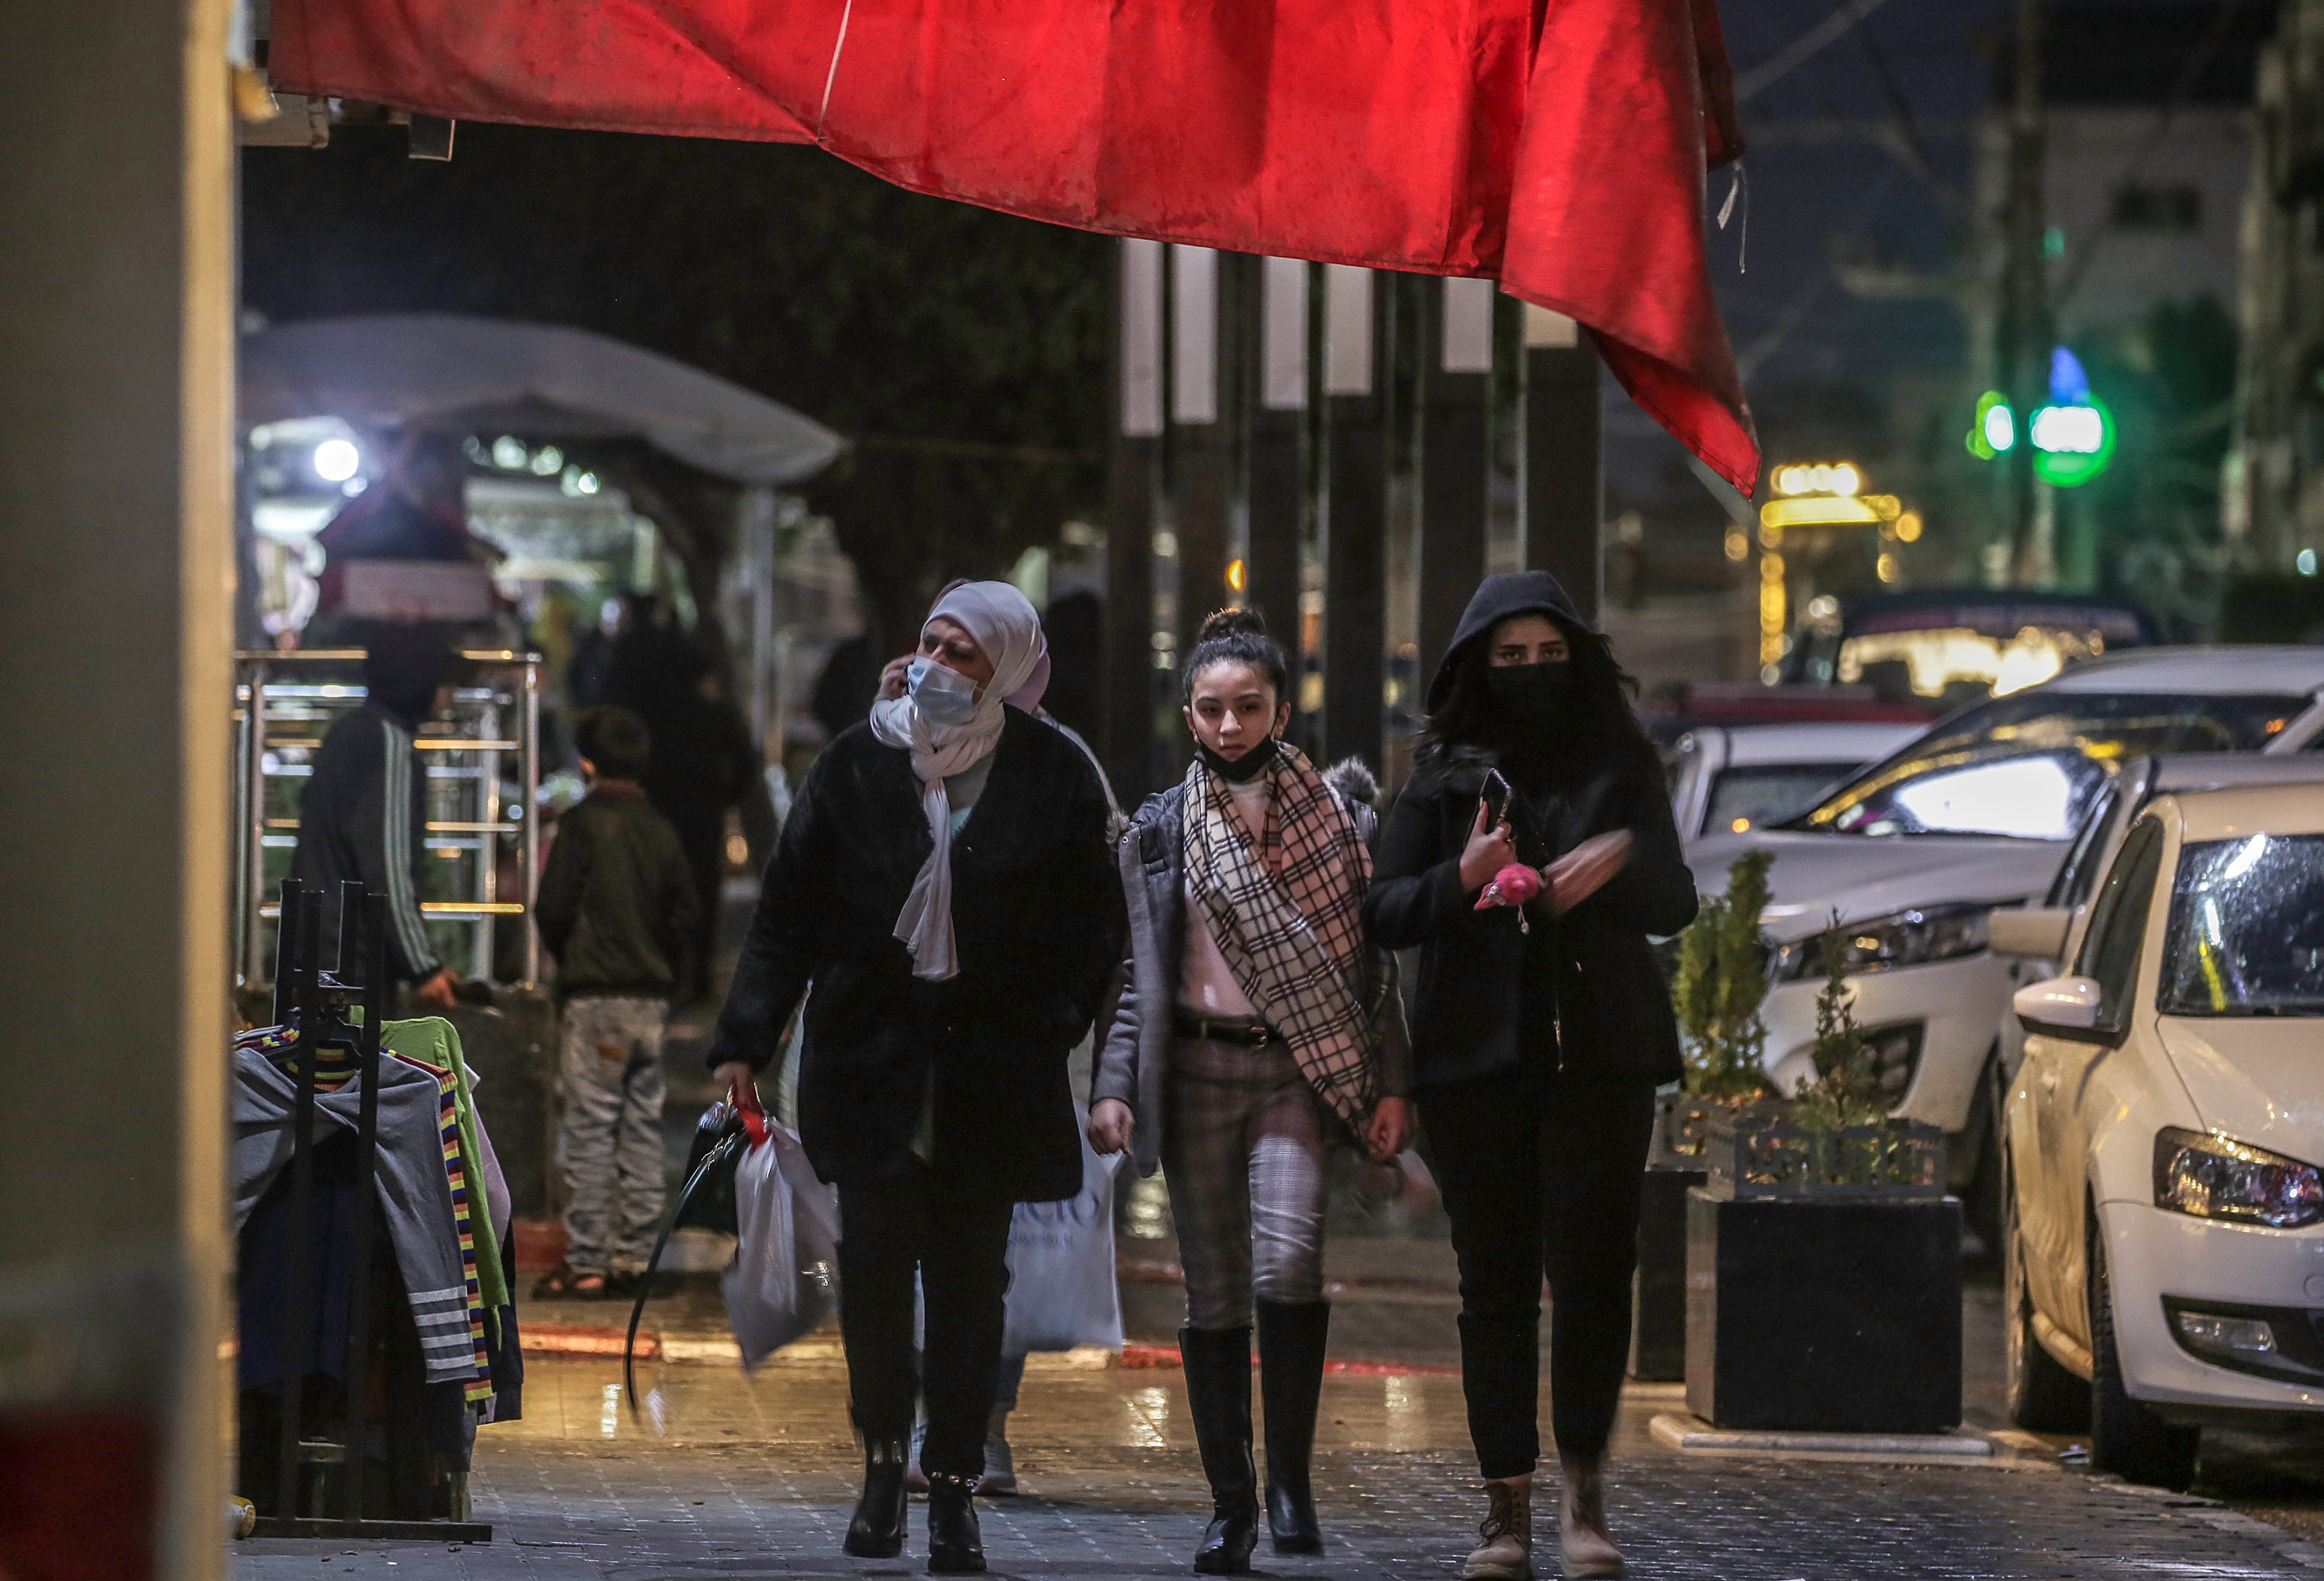
[[[1717,1428],[1948,1432],[1961,1421],[1961,1204],[1945,1137],[1887,1114],[1838,918],[1815,1081],[1710,1121],[1687,1197],[1687,1409]]]

